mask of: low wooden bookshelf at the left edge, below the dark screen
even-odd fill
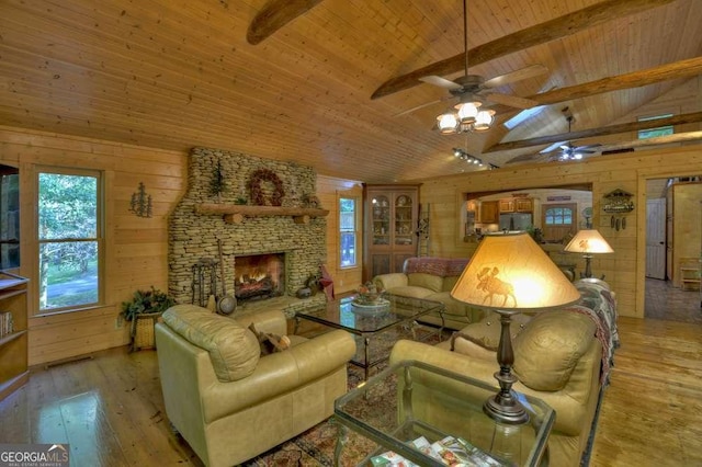
[[[24,277],[0,271],[0,400],[30,377],[27,282]]]

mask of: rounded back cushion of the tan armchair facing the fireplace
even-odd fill
[[[163,312],[163,322],[210,353],[217,379],[222,381],[245,378],[259,363],[258,339],[231,318],[196,305],[176,305]]]

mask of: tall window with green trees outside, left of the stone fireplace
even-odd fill
[[[100,173],[42,170],[37,184],[39,310],[97,305],[102,250]]]

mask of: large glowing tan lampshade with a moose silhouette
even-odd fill
[[[526,232],[488,235],[451,291],[475,307],[514,312],[571,305],[580,293]]]

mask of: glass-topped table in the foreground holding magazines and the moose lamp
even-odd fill
[[[518,394],[529,422],[497,423],[483,412],[483,402],[496,391],[488,384],[423,362],[396,363],[336,400],[333,417],[340,431],[335,465],[339,465],[349,430],[378,445],[358,465],[385,465],[386,458],[397,462],[399,455],[420,466],[440,467],[445,464],[435,453],[461,458],[460,451],[467,453],[461,465],[547,464],[553,409]]]

